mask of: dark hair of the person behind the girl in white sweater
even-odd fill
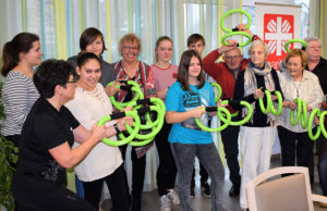
[[[106,44],[105,44],[105,38],[104,38],[102,33],[94,27],[86,28],[82,33],[81,38],[80,38],[80,49],[85,50],[86,46],[94,42],[94,40],[96,40],[99,36],[101,37],[101,41],[102,41],[102,52],[101,52],[101,54],[102,54],[104,51],[107,50]]]

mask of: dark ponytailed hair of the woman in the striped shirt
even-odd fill
[[[33,48],[33,42],[38,40],[35,34],[20,33],[11,41],[5,42],[2,50],[1,74],[7,76],[19,64],[20,53],[28,52]]]

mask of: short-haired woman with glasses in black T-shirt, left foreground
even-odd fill
[[[22,129],[20,158],[12,193],[20,210],[96,210],[64,187],[65,169],[78,164],[113,126],[82,126],[63,105],[75,96],[74,69],[65,61],[47,60],[34,74],[40,94]],[[120,124],[124,131],[125,119]],[[81,145],[71,149],[74,141]]]

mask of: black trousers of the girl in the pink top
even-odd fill
[[[174,159],[171,152],[170,142],[168,141],[168,135],[171,129],[171,124],[167,124],[166,121],[161,131],[155,138],[158,156],[159,166],[157,170],[157,184],[159,196],[167,195],[167,189],[173,189],[177,167]]]

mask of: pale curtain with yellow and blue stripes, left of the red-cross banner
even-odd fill
[[[21,32],[39,35],[44,60],[66,60],[80,51],[80,36],[87,27],[99,28],[107,46],[104,59],[121,60],[119,39],[135,33],[142,39],[140,60],[153,64],[159,36],[173,40],[172,63],[179,64],[191,34],[206,39],[204,55],[220,46],[220,17],[227,9],[240,8],[239,0],[0,0],[0,48]],[[13,15],[14,14],[14,15]],[[229,25],[239,20],[229,21]],[[219,134],[214,134],[218,139]],[[221,144],[217,142],[223,156]],[[130,161],[129,151],[126,161]],[[225,159],[223,159],[225,160]],[[158,158],[154,147],[147,153],[145,190],[156,188]],[[131,163],[126,163],[131,181]],[[70,178],[73,176],[70,174]],[[74,190],[74,184],[70,183]]]

